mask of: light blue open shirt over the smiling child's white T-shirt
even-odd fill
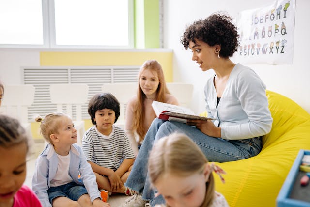
[[[86,161],[82,148],[78,144],[71,145],[69,175],[79,185],[84,185],[91,201],[101,198],[96,176],[93,174],[91,165]],[[48,144],[35,162],[35,171],[32,178],[32,190],[40,199],[43,207],[52,207],[49,203],[47,190],[50,181],[55,177],[58,167],[58,157],[52,144]],[[78,180],[78,172],[81,182]]]

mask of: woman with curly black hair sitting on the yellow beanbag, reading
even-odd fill
[[[247,159],[261,151],[261,137],[270,131],[272,124],[266,87],[252,69],[230,60],[238,47],[237,29],[231,21],[229,16],[213,14],[195,21],[184,32],[181,42],[192,51],[192,60],[202,71],[215,72],[204,88],[206,111],[213,120],[183,124],[155,119],[125,183],[142,196],[133,196],[124,207],[142,207],[146,201],[152,206],[165,202],[161,195],[155,196],[150,186],[147,158],[153,144],[173,132],[190,137],[209,161]],[[190,192],[186,189],[180,198],[190,196]]]

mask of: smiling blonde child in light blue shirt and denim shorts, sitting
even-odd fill
[[[41,122],[49,144],[36,160],[32,189],[44,207],[109,207],[101,200],[96,177],[77,143],[77,130],[64,113],[50,113]]]

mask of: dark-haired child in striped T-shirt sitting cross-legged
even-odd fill
[[[90,100],[88,113],[93,127],[82,141],[83,153],[91,164],[99,189],[134,194],[124,187],[134,154],[125,131],[114,123],[120,116],[120,103],[110,93],[96,94]]]

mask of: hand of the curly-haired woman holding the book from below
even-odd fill
[[[187,120],[187,125],[196,126],[202,133],[210,137],[222,137],[221,127],[216,127],[210,120],[192,119]]]

